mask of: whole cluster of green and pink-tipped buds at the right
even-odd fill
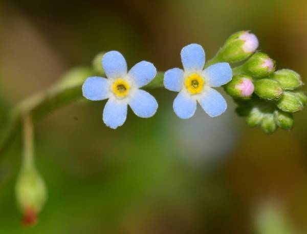
[[[278,127],[293,127],[293,113],[307,103],[307,96],[299,88],[300,75],[289,69],[275,71],[276,62],[267,54],[255,52],[258,40],[247,31],[231,35],[213,61],[237,63],[233,79],[224,85],[225,91],[238,103],[237,113],[246,116],[251,127],[260,126],[266,133]]]

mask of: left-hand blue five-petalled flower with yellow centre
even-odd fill
[[[107,79],[89,77],[82,86],[86,99],[108,99],[103,109],[103,122],[110,128],[122,126],[127,117],[127,105],[142,118],[156,113],[158,103],[148,92],[139,89],[148,84],[157,74],[153,64],[142,61],[127,72],[127,64],[118,51],[107,52],[102,57],[102,67]]]

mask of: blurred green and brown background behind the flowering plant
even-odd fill
[[[164,71],[181,66],[183,46],[199,43],[209,59],[239,30],[252,30],[277,68],[307,82],[306,11],[305,0],[1,1],[0,120],[100,51]],[[117,130],[101,120],[104,102],[74,103],[35,125],[49,193],[31,228],[21,226],[14,197],[17,138],[0,159],[0,233],[260,233],[259,220],[280,226],[262,212],[272,204],[282,222],[307,232],[307,111],[291,132],[268,136],[248,128],[231,99],[218,118],[198,108],[180,120],[176,93],[150,92],[157,114],[129,110]]]

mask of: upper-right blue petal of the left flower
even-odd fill
[[[138,87],[147,85],[153,78],[155,78],[156,74],[156,67],[147,61],[137,63],[128,73]]]

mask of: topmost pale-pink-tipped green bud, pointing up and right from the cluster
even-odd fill
[[[237,63],[247,59],[258,48],[257,37],[248,31],[232,34],[217,52],[220,62]]]

